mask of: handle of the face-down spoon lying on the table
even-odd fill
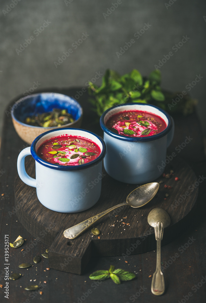
[[[161,271],[161,240],[163,238],[163,222],[156,222],[155,226],[155,237],[157,240],[157,262],[156,262],[156,271],[153,274],[151,291],[153,295],[160,296],[165,291],[165,281],[164,276]]]

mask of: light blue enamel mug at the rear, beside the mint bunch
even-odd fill
[[[148,137],[127,137],[112,132],[105,125],[114,114],[138,110],[159,116],[165,121],[166,128]],[[144,103],[121,104],[103,113],[100,126],[107,145],[104,167],[112,178],[124,183],[140,184],[154,181],[163,173],[159,167],[166,159],[166,150],[174,135],[174,121],[166,111]]]

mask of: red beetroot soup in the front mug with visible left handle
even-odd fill
[[[58,136],[47,140],[37,150],[43,160],[57,165],[81,165],[101,153],[97,144],[78,136]]]

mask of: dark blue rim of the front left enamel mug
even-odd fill
[[[64,165],[56,165],[56,164],[51,164],[43,159],[41,159],[41,157],[39,157],[37,155],[37,152],[36,152],[36,144],[37,142],[44,136],[44,135],[47,135],[49,133],[53,133],[53,132],[56,132],[56,131],[65,131],[65,133],[67,131],[70,131],[70,130],[78,130],[78,131],[82,131],[82,132],[85,132],[85,133],[89,133],[89,134],[92,134],[94,135],[95,137],[97,137],[99,139],[99,141],[101,142],[102,144],[102,151],[100,153],[100,155],[95,158],[94,160],[88,162],[88,163],[85,163],[85,164],[81,164],[81,165],[68,165],[68,166],[64,166]],[[76,170],[81,170],[81,169],[85,169],[85,168],[89,168],[95,164],[98,164],[100,161],[102,161],[102,159],[105,157],[105,154],[106,154],[106,151],[107,151],[107,147],[106,147],[106,144],[104,142],[104,140],[99,137],[98,135],[96,135],[95,133],[93,132],[90,132],[90,131],[87,131],[85,129],[81,129],[81,128],[55,128],[51,131],[47,131],[47,132],[44,132],[43,134],[39,135],[37,138],[34,139],[34,141],[31,143],[31,155],[32,157],[34,158],[34,160],[36,160],[38,163],[48,167],[48,168],[52,168],[52,169],[57,169],[57,170],[61,170],[61,171],[76,171]]]

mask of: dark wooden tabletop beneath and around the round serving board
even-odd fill
[[[49,89],[45,91],[60,92],[75,96],[80,88],[75,89]],[[21,96],[19,96],[21,97]],[[18,97],[18,98],[19,98]],[[11,102],[13,104],[18,100]],[[84,110],[82,128],[102,135],[101,128],[95,123],[94,113],[90,110],[87,92],[79,98]],[[11,105],[10,104],[10,105]],[[8,106],[7,111],[10,111]],[[193,211],[193,220],[184,230],[179,231],[179,237],[170,244],[162,247],[162,265],[166,284],[165,294],[156,297],[151,293],[151,277],[156,267],[156,251],[140,255],[119,257],[92,258],[84,275],[73,275],[53,269],[47,270],[48,260],[43,259],[36,266],[19,270],[22,262],[32,263],[35,255],[42,254],[48,248],[32,237],[21,225],[14,208],[14,178],[17,174],[16,162],[19,152],[28,145],[16,134],[11,121],[11,115],[5,112],[4,128],[2,132],[0,157],[0,184],[1,184],[1,249],[0,249],[0,300],[13,303],[131,303],[131,302],[205,302],[205,156],[203,151],[203,137],[200,122],[193,113],[187,117],[175,115],[175,136],[168,150],[168,155],[175,151],[175,147],[185,142],[186,137],[192,138],[181,151],[178,157],[183,158],[195,171],[196,176],[203,176],[204,181],[198,185],[199,194],[197,207]],[[199,178],[199,177],[198,177]],[[184,194],[184,193],[183,193]],[[5,235],[13,241],[21,235],[27,241],[22,249],[9,247],[9,265],[5,264]],[[192,239],[192,241],[191,241]],[[178,257],[177,257],[178,255]],[[175,257],[176,256],[176,257]],[[125,258],[125,259],[124,259]],[[128,261],[126,263],[125,261]],[[98,269],[108,269],[110,265],[115,268],[137,273],[132,281],[123,281],[116,285],[111,279],[105,281],[92,281],[89,275]],[[11,272],[21,272],[24,276],[16,281],[9,281],[9,295],[5,298],[6,282],[4,275],[6,267]],[[30,280],[32,280],[30,282]],[[36,281],[34,281],[36,280]],[[44,283],[46,281],[46,283]],[[41,282],[41,283],[40,283]],[[39,284],[40,290],[26,291],[24,288],[30,284]],[[42,295],[39,294],[42,291]]]

